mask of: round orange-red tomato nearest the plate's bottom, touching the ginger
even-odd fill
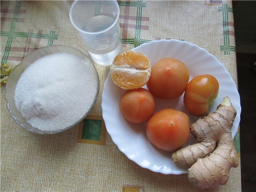
[[[147,122],[146,135],[157,148],[173,152],[184,146],[190,137],[189,117],[184,112],[166,108]]]

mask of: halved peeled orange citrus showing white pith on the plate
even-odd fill
[[[132,50],[118,54],[110,67],[110,76],[120,88],[130,90],[144,86],[151,74],[148,57]]]

